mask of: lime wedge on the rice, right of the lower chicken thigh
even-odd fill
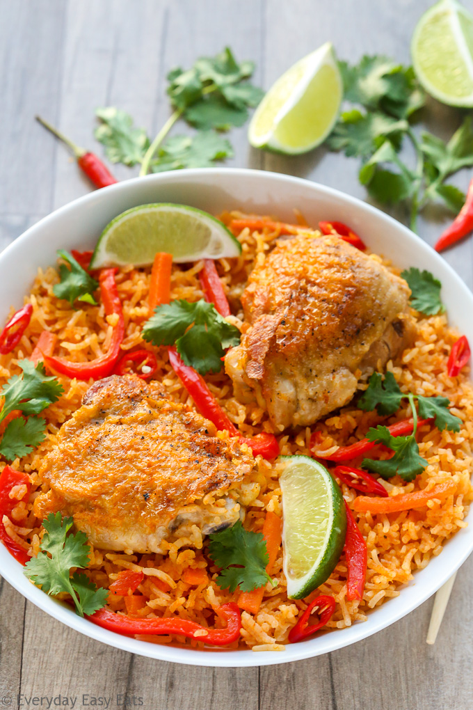
[[[284,456],[279,479],[284,511],[287,595],[302,599],[323,584],[345,544],[347,515],[340,488],[322,464],[308,456]]]

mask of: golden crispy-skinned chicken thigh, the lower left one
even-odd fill
[[[211,422],[160,384],[111,376],[91,386],[62,425],[39,471],[51,489],[36,498],[35,515],[72,515],[106,550],[162,552],[179,525],[235,522],[240,506],[231,491],[254,464],[237,439],[219,439]],[[221,496],[221,515],[202,504],[212,491]]]

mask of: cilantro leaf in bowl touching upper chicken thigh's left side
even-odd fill
[[[157,346],[175,344],[184,363],[204,375],[221,370],[225,349],[238,345],[240,331],[212,303],[175,300],[155,308],[143,338]]]

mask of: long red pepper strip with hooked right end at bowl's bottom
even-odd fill
[[[130,618],[103,608],[87,618],[89,621],[106,628],[109,631],[126,635],[146,634],[162,635],[177,634],[203,641],[211,646],[226,646],[238,640],[241,628],[240,609],[234,602],[223,604],[216,608],[218,616],[227,622],[226,628],[205,628],[195,621],[169,616],[168,618]],[[204,633],[205,632],[205,633]]]

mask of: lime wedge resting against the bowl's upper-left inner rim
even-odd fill
[[[118,214],[102,232],[91,268],[148,266],[158,251],[174,261],[239,256],[240,243],[207,212],[185,204],[140,204]]]

